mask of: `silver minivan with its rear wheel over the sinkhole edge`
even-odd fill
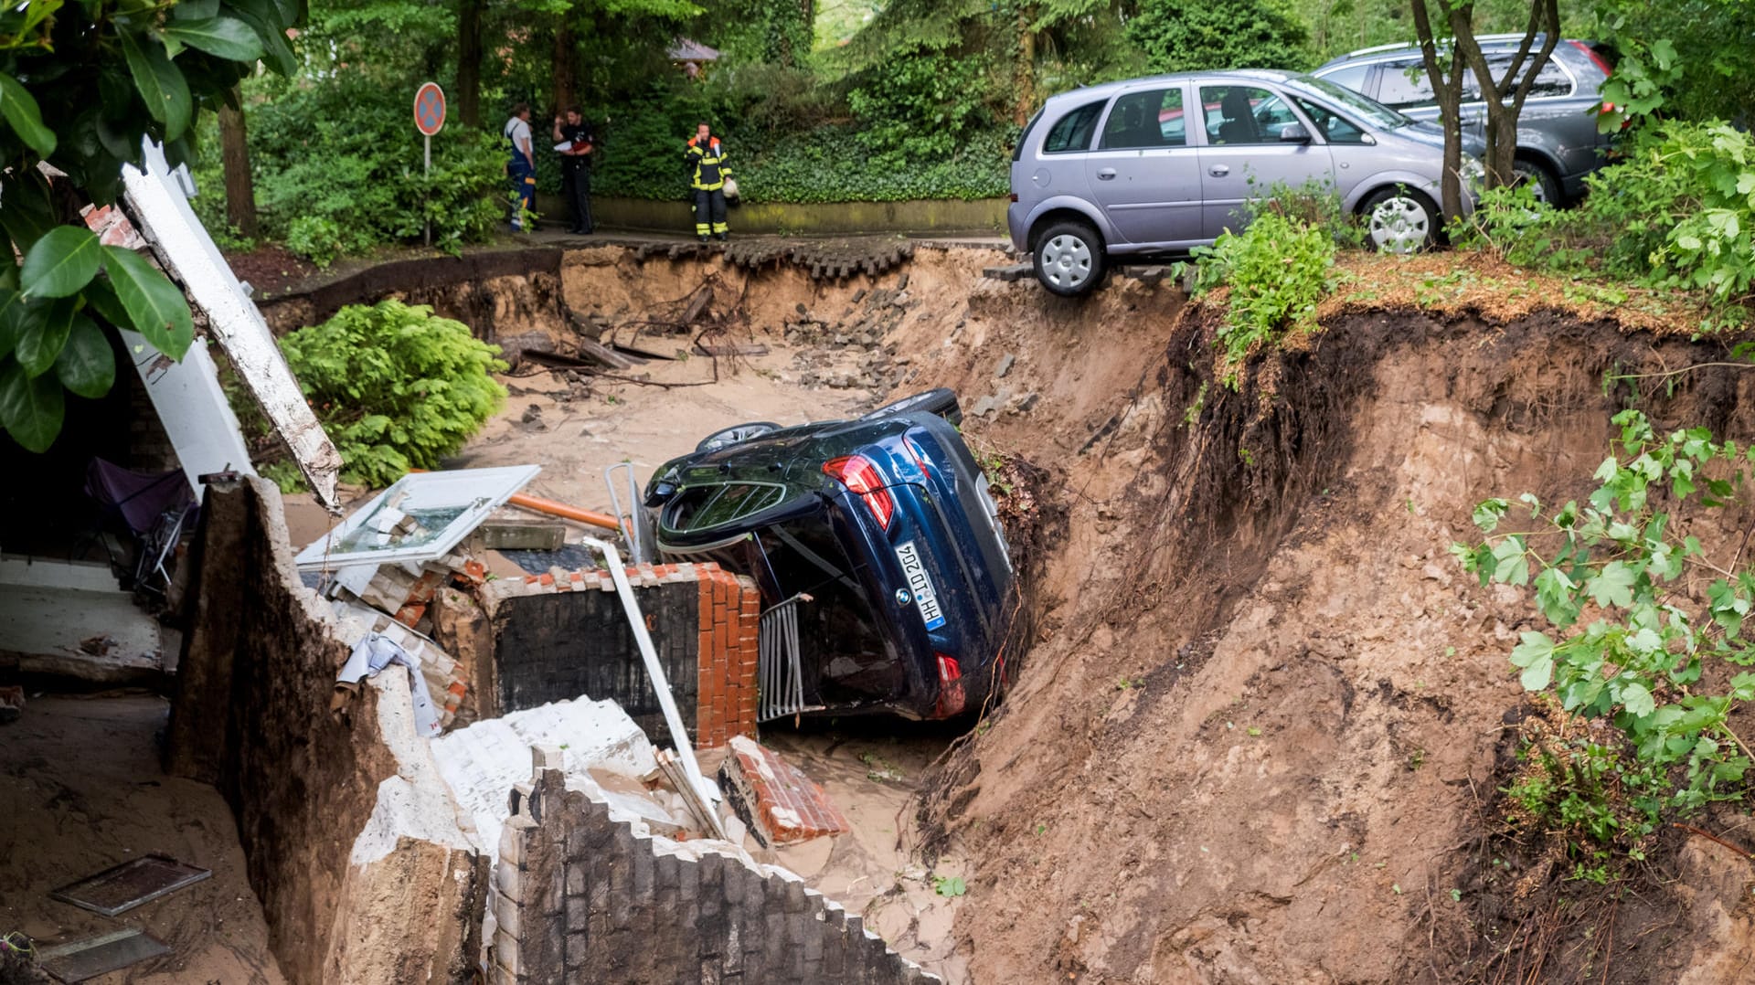
[[[1186,253],[1241,228],[1276,184],[1332,184],[1378,249],[1439,234],[1444,133],[1292,72],[1181,72],[1051,97],[1011,162],[1006,221],[1049,291],[1081,295],[1109,258]],[[1464,186],[1485,144],[1464,140]],[[1464,195],[1472,209],[1472,197]]]

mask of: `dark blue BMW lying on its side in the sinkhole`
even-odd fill
[[[739,425],[653,474],[658,551],[762,590],[760,720],[951,718],[1000,676],[1011,557],[953,420],[937,390],[858,420]]]

